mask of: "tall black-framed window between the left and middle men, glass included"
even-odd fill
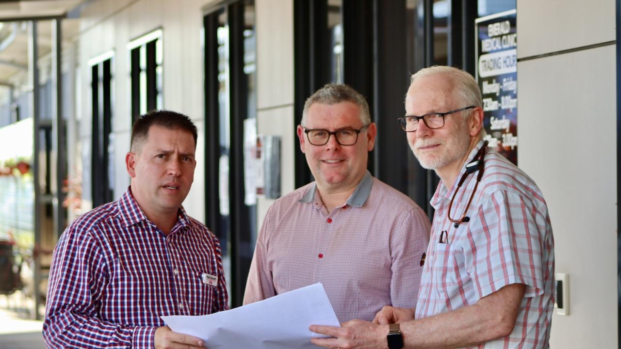
[[[232,306],[243,301],[256,240],[256,206],[245,201],[244,125],[256,133],[254,3],[204,17],[207,226],[222,247]]]

